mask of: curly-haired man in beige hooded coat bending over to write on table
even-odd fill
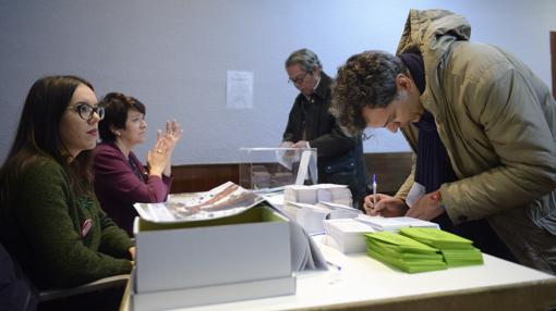
[[[486,220],[520,263],[555,274],[556,101],[525,64],[470,34],[460,15],[411,10],[396,57],[366,51],[338,70],[340,126],[401,129],[415,152],[396,196],[368,196],[365,210]]]

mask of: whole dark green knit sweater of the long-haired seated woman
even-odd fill
[[[56,161],[38,158],[1,187],[0,237],[37,287],[130,273],[133,242],[96,198],[76,197]]]

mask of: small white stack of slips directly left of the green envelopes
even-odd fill
[[[343,253],[364,252],[365,234],[375,232],[372,226],[353,219],[326,220],[324,228],[326,244]]]

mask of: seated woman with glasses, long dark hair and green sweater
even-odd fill
[[[0,170],[0,239],[38,288],[126,274],[134,247],[100,209],[92,150],[102,108],[76,76],[31,88]]]

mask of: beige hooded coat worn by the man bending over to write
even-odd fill
[[[469,42],[471,26],[448,11],[411,10],[397,53],[419,49],[426,89],[459,181],[442,185],[455,224],[487,219],[518,260],[556,273],[556,102],[509,53]],[[415,150],[419,130],[402,128]],[[404,199],[414,165],[398,194]]]

